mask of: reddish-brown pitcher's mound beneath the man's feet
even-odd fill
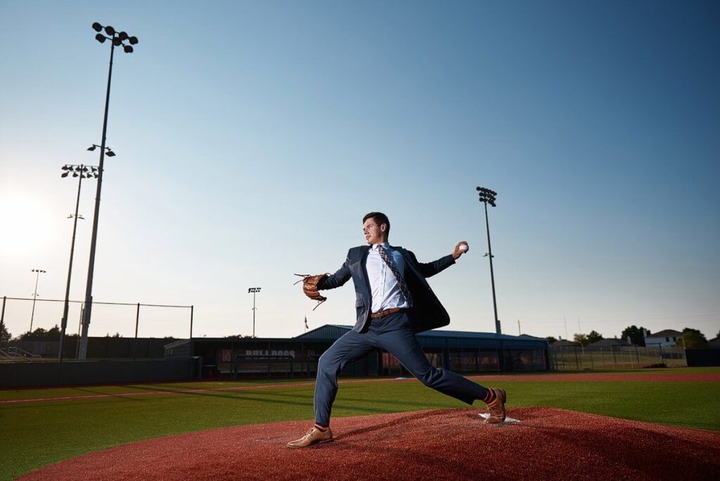
[[[333,419],[336,441],[287,449],[310,421],[238,426],[127,444],[22,480],[717,479],[720,433],[554,408],[513,408],[489,426],[477,409]]]

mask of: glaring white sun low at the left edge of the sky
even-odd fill
[[[19,192],[0,192],[0,254],[21,256],[37,251],[49,238],[50,208]]]

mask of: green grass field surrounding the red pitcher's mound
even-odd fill
[[[644,371],[637,371],[642,374]],[[657,371],[655,371],[657,372]],[[720,368],[662,372],[718,373]],[[539,379],[543,374],[539,374]],[[592,375],[592,373],[590,373]],[[514,381],[499,384],[508,407],[550,406],[651,423],[720,431],[717,382]],[[482,378],[480,378],[482,382]],[[119,395],[161,395],[0,404],[0,480],[110,446],[189,431],[275,421],[312,421],[312,379],[297,382],[192,382],[0,391],[1,400]],[[178,392],[248,386],[247,390]],[[478,405],[482,408],[482,404]],[[419,382],[341,384],[333,416],[467,408]],[[295,433],[289,433],[292,435]],[[301,433],[297,433],[300,435]]]

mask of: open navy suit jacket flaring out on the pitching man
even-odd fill
[[[400,252],[405,259],[405,283],[408,284],[414,303],[408,313],[413,331],[419,333],[448,325],[450,316],[425,279],[455,264],[455,259],[451,255],[447,255],[437,261],[423,264],[418,262],[415,254],[411,251],[402,247],[393,246],[392,248]],[[355,309],[357,311],[357,321],[353,331],[357,332],[362,331],[365,327],[372,307],[370,282],[365,266],[369,251],[370,246],[351,248],[341,268],[318,283],[318,289],[335,289],[348,282],[348,279],[352,277],[355,284]]]

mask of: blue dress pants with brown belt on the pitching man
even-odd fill
[[[320,356],[318,377],[315,380],[315,422],[330,426],[330,411],[338,392],[338,371],[348,362],[369,354],[377,348],[395,356],[420,382],[427,387],[471,404],[484,399],[487,388],[454,372],[433,367],[423,353],[408,315],[401,311],[381,319],[368,321],[363,332],[350,331],[339,338]]]

